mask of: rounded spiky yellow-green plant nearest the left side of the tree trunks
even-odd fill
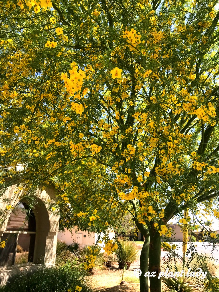
[[[131,263],[138,258],[139,248],[133,241],[118,241],[118,248],[114,254],[108,256],[110,261],[119,263],[119,269],[124,269],[127,264],[127,270]]]

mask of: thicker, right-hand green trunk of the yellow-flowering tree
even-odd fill
[[[150,246],[149,246],[149,271],[156,272],[155,277],[150,277],[150,291],[161,292],[161,278],[158,279],[159,273],[161,272],[160,267],[161,257],[161,237],[154,225],[150,228]]]

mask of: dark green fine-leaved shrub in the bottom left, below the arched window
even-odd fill
[[[81,291],[91,292],[83,280],[84,272],[70,263],[59,268],[40,267],[36,271],[14,274],[0,287],[0,292],[67,292],[68,289],[74,292],[77,285],[82,287]]]

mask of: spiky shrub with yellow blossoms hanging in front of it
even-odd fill
[[[93,267],[98,269],[106,269],[105,262],[106,257],[101,252],[101,247],[98,244],[92,246],[85,246],[84,248],[78,248],[73,253],[73,259],[80,264],[84,264],[85,269],[92,271]],[[93,265],[94,264],[94,265]]]

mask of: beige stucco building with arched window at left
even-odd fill
[[[55,265],[59,227],[58,208],[51,208],[55,189],[37,188],[27,200],[23,187],[18,181],[0,195],[0,282],[16,267]]]

